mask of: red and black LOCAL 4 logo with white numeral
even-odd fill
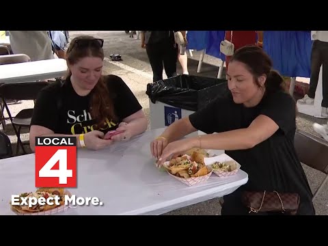
[[[76,137],[36,137],[36,187],[77,187]]]

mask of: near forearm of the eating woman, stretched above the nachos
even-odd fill
[[[208,150],[247,150],[254,147],[249,129],[237,129],[224,133],[200,135],[191,139],[193,147]]]

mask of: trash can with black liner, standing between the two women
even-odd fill
[[[228,96],[226,79],[178,75],[148,83],[150,128],[163,128],[202,109],[217,97]]]

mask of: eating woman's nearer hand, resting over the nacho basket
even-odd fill
[[[193,139],[182,139],[178,141],[174,141],[172,143],[168,143],[164,148],[161,156],[159,157],[159,161],[156,163],[158,167],[163,165],[165,161],[168,161],[169,158],[174,156],[178,156],[183,152],[190,150],[193,147],[197,147],[197,144],[194,143]]]

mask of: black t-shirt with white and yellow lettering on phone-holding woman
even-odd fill
[[[115,130],[122,120],[142,109],[137,98],[124,81],[115,75],[105,77],[109,96],[118,120],[105,119],[105,125],[97,126],[90,113],[92,92],[79,96],[70,79],[63,84],[55,82],[40,92],[33,110],[31,125],[44,126],[54,133],[81,134],[98,130],[103,133]]]

